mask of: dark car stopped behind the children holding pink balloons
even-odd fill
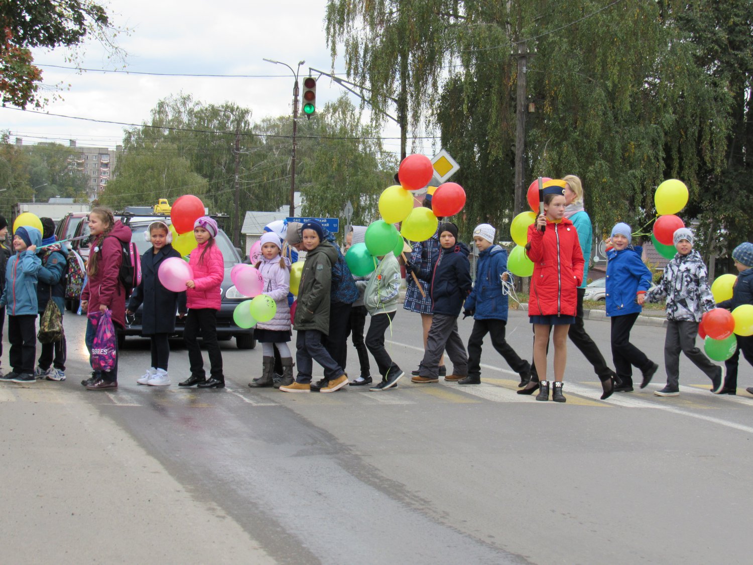
[[[136,247],[139,249],[139,254],[143,255],[148,249],[151,249],[151,243],[144,238],[144,233],[147,230],[149,224],[155,220],[164,221],[166,224],[170,224],[169,216],[158,217],[146,217],[136,216],[123,218],[123,223],[127,224],[133,231],[133,243],[136,243]],[[220,310],[217,313],[217,337],[220,341],[229,340],[235,337],[236,346],[241,350],[254,349],[256,347],[256,339],[254,337],[253,328],[239,328],[235,322],[233,322],[233,310],[239,304],[239,302],[248,300],[248,297],[241,295],[230,280],[230,270],[234,265],[242,262],[238,250],[233,247],[230,242],[230,238],[227,234],[220,229],[217,237],[215,238],[215,244],[222,252],[222,256],[225,261],[225,276],[221,285],[221,298],[222,303]],[[120,344],[123,344],[125,337],[128,335],[141,335],[142,331],[142,308],[139,307],[133,317],[127,317],[127,326],[123,331],[122,337],[119,335]],[[184,331],[184,320],[177,318],[175,320],[175,335],[182,336]]]

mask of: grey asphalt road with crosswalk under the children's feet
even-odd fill
[[[178,388],[179,343],[172,386],[138,386],[149,352],[136,338],[120,389],[87,392],[84,319],[65,325],[66,382],[0,383],[11,562],[750,562],[753,371],[742,362],[739,395],[716,396],[682,359],[681,395],[654,396],[663,328],[633,330],[662,365],[654,383],[607,401],[570,347],[561,405],[515,394],[489,344],[479,386],[404,378],[322,395],[249,389],[261,348],[233,341],[224,390]],[[388,335],[407,372],[420,328],[400,310]],[[608,322],[587,328],[610,357]],[[530,351],[524,313],[508,341]],[[6,344],[3,368],[7,357]],[[351,350],[351,374],[357,364]]]

